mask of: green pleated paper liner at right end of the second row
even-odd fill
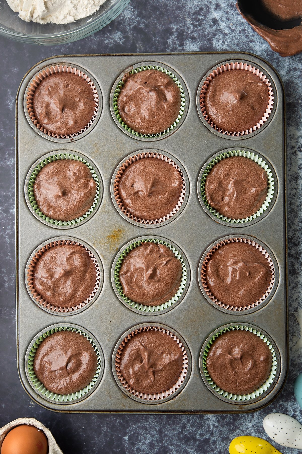
[[[215,164],[217,164],[222,159],[230,158],[231,156],[243,156],[244,158],[252,159],[252,161],[259,164],[259,166],[265,170],[265,173],[268,178],[268,192],[267,192],[266,199],[264,200],[262,206],[252,216],[245,217],[244,219],[230,219],[230,217],[223,216],[220,212],[216,211],[215,208],[211,207],[211,205],[209,204],[209,202],[206,199],[206,190],[205,190],[206,177],[210,173],[211,169],[215,166]],[[221,221],[230,222],[232,224],[249,222],[249,221],[252,221],[253,219],[256,219],[257,217],[259,217],[268,208],[269,204],[271,203],[271,201],[273,199],[274,189],[275,189],[274,184],[275,183],[274,183],[273,173],[272,173],[271,169],[268,167],[268,164],[262,158],[260,158],[257,154],[250,153],[249,151],[244,151],[244,150],[228,151],[228,152],[220,154],[219,156],[216,156],[216,158],[214,158],[207,165],[207,167],[201,177],[201,188],[200,188],[201,199],[202,199],[203,203],[205,204],[206,208],[209,210],[209,212],[211,212],[214,216],[218,217],[218,219],[221,219]]]

